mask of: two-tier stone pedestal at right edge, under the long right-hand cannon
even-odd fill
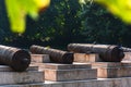
[[[131,77],[131,63],[93,63],[98,78]]]

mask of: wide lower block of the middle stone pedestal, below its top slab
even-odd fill
[[[45,79],[55,82],[95,79],[97,70],[76,69],[76,70],[45,70]]]

